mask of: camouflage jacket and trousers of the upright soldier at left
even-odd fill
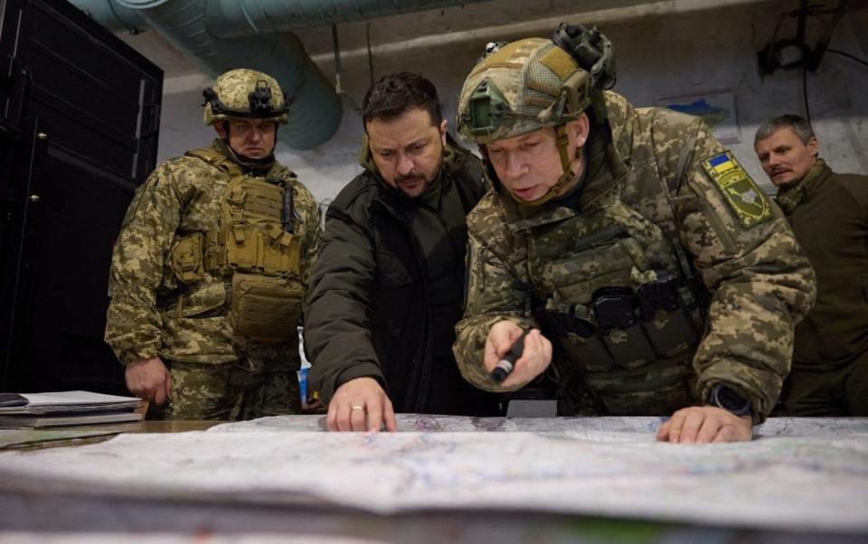
[[[206,120],[209,114],[210,108]],[[211,114],[212,121],[217,117]],[[214,247],[217,233],[227,230],[225,193],[241,178],[291,191],[293,233],[283,234],[298,247],[300,273],[273,280],[299,291],[297,309],[286,307],[297,316],[316,258],[319,213],[311,193],[276,161],[244,166],[220,139],[170,159],[138,187],[118,234],[106,342],[123,364],[157,356],[164,361],[173,382],[166,417],[247,419],[300,408],[297,323],[288,323],[279,341],[263,342],[236,333],[230,319],[233,277],[241,275],[216,262]],[[205,242],[202,262],[196,277],[182,280],[177,249],[197,236]]]

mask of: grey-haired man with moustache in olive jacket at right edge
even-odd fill
[[[816,305],[796,325],[788,416],[868,416],[868,177],[835,174],[806,119],[763,123],[754,148],[816,270]]]

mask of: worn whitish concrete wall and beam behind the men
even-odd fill
[[[533,9],[526,7],[531,4]],[[353,107],[354,103],[361,103],[370,84],[367,50],[358,47],[369,35],[376,38],[374,77],[399,70],[422,73],[438,85],[444,113],[452,125],[458,91],[486,42],[548,35],[558,21],[564,20],[600,23],[616,47],[619,77],[615,90],[637,106],[653,106],[655,99],[661,97],[732,91],[741,141],[729,146],[754,179],[770,188],[753,153],[753,135],[768,117],[784,113],[804,115],[802,73],[778,70],[760,80],[756,52],[769,42],[778,15],[797,8],[796,0],[714,3],[681,0],[571,14],[576,4],[579,3],[497,0],[467,8],[342,25],[339,37],[342,50],[346,48],[342,52],[346,100],[340,130],[326,145],[312,151],[294,152],[278,145],[278,159],[294,170],[319,200],[335,196],[360,172],[355,154],[362,124]],[[712,4],[723,7],[704,7]],[[467,30],[471,7],[489,14],[487,26]],[[507,15],[495,24],[496,14]],[[835,30],[831,47],[864,59],[868,55],[861,49],[860,40],[864,41],[868,14],[863,10],[854,18],[861,22],[862,29],[855,30],[858,24],[845,18]],[[460,21],[461,30],[450,31],[450,20]],[[517,20],[521,23],[512,23]],[[827,16],[823,21],[809,22],[809,43],[816,42],[826,21]],[[413,34],[414,28],[423,37],[389,42],[391,29],[401,29],[400,33],[396,31],[401,37]],[[795,28],[795,20],[788,19],[778,38],[794,36]],[[298,35],[324,73],[333,76],[331,29],[307,29]],[[211,129],[202,125],[199,108],[201,89],[207,83],[197,73],[166,80],[160,160],[203,145],[212,137]],[[807,74],[807,94],[822,146],[821,155],[840,172],[868,174],[865,89],[868,89],[868,67],[841,55],[827,53],[819,70]]]

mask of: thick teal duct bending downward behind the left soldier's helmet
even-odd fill
[[[113,4],[136,10],[148,26],[212,76],[252,68],[278,80],[290,104],[288,126],[278,131],[278,137],[288,146],[311,149],[335,134],[343,115],[341,99],[295,35],[218,38],[205,27],[205,0],[116,0]]]

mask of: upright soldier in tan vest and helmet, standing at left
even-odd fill
[[[219,137],[138,187],[112,258],[106,342],[127,388],[165,417],[292,413],[318,208],[274,158],[288,120],[276,80],[230,70],[203,95]]]

